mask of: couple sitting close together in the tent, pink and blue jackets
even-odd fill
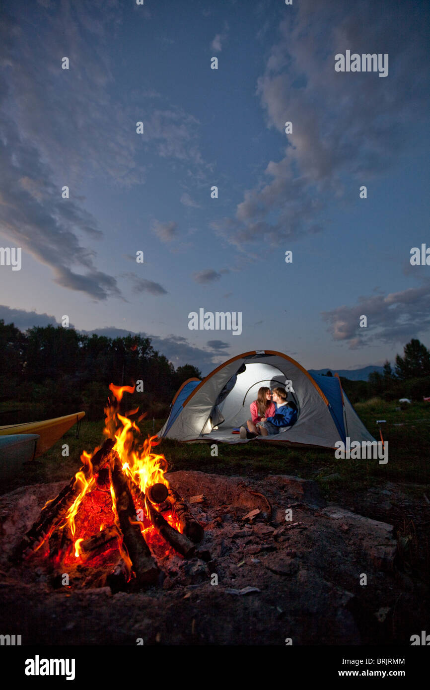
[[[251,402],[251,420],[240,427],[241,438],[268,436],[286,431],[297,420],[297,406],[288,402],[285,388],[262,386],[257,400]]]

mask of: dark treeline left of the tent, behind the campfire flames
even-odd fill
[[[168,414],[180,384],[193,376],[202,374],[190,364],[175,370],[150,338],[81,335],[61,326],[23,333],[0,319],[0,402],[8,405],[34,404],[37,413],[47,416],[84,410],[90,420],[99,420],[111,382],[128,386],[141,380],[143,392],[133,395],[133,406],[159,418]],[[12,421],[31,420],[14,415]],[[8,422],[0,417],[0,424]]]

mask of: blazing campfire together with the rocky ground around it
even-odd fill
[[[3,633],[23,644],[284,645],[398,643],[421,629],[393,526],[327,505],[300,477],[166,473],[138,411],[120,412],[133,388],[110,388],[106,440],[67,486],[0,497]]]

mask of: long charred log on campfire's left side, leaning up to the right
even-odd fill
[[[101,449],[95,453],[92,457],[92,471],[97,473],[99,468],[104,462],[106,462],[110,451],[115,445],[115,440],[108,438]],[[84,465],[81,467],[81,472],[84,473],[86,477],[90,475],[90,466]],[[49,534],[50,529],[55,524],[63,518],[66,514],[72,502],[75,500],[77,494],[79,493],[79,486],[77,486],[76,477],[72,477],[67,486],[60,491],[60,493],[55,497],[54,500],[50,501],[41,511],[39,520],[37,520],[32,527],[28,530],[26,535],[23,537],[21,544],[19,544],[19,554],[26,557],[29,555],[37,546],[41,546],[46,536]]]

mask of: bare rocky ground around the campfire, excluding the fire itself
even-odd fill
[[[134,593],[72,578],[55,590],[37,560],[14,562],[62,483],[0,497],[0,632],[23,644],[409,645],[428,627],[429,505],[418,489],[326,503],[315,482],[287,475],[167,476],[186,499],[204,494],[192,510],[211,560],[157,551],[159,586]],[[260,512],[244,519],[250,511]]]

